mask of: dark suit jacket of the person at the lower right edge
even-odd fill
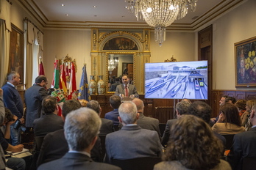
[[[246,157],[256,157],[256,127],[235,134],[227,161],[233,170],[242,169],[242,160]]]

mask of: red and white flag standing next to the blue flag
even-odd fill
[[[68,100],[69,99],[77,99],[77,82],[76,82],[76,70],[74,67],[74,63],[71,62],[71,76],[69,83],[69,91],[68,91]]]

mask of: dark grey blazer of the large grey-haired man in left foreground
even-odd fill
[[[121,170],[117,166],[113,166],[107,163],[97,163],[93,162],[87,155],[82,153],[74,153],[68,152],[66,153],[63,158],[58,160],[51,161],[49,163],[44,163],[43,165],[39,166],[38,170],[99,170],[99,169],[106,169],[106,170]]]

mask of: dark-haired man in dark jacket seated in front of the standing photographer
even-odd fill
[[[56,97],[45,97],[42,103],[42,117],[33,122],[35,136],[46,136],[47,133],[63,129],[63,119],[57,116]]]

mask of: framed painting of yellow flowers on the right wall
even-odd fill
[[[235,43],[235,86],[256,86],[256,37]]]

